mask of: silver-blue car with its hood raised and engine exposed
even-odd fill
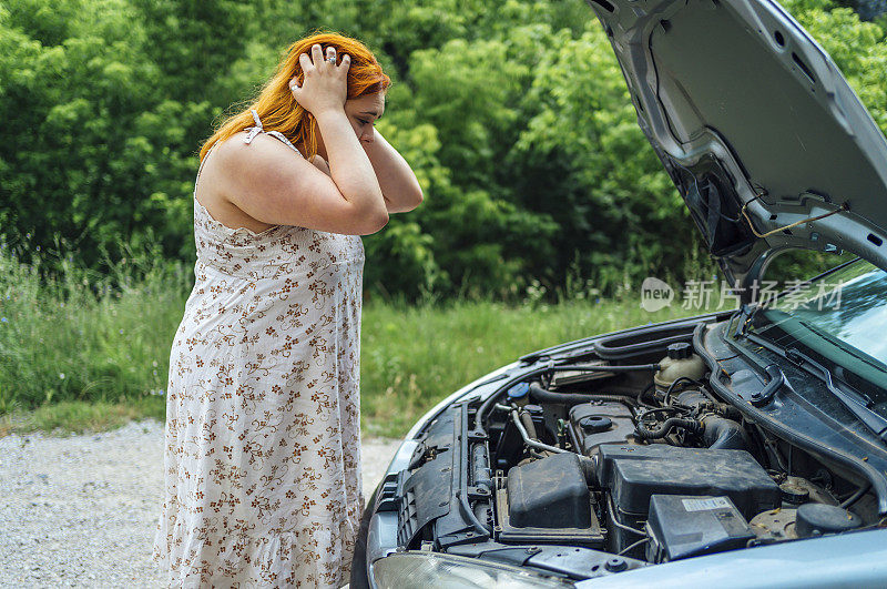
[[[884,135],[775,2],[589,6],[735,308],[441,400],[368,501],[351,587],[887,586]],[[849,258],[763,299],[785,252]]]

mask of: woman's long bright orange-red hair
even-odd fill
[[[201,148],[201,161],[206,156],[210,149],[221,141],[225,141],[233,134],[253,126],[253,114],[249,112],[255,109],[262,120],[265,131],[279,131],[295,145],[305,149],[306,158],[313,160],[317,154],[317,122],[310,112],[302,108],[289,90],[289,80],[296,78],[302,85],[305,74],[298,57],[302,53],[310,55],[313,44],[319,43],[323,55],[326,57],[326,48],[336,49],[336,62],[341,63],[341,55],[347,53],[351,58],[348,68],[348,99],[386,92],[391,85],[391,80],[381,70],[381,65],[376,61],[373,52],[360,41],[344,37],[338,33],[317,33],[299,39],[286,51],[286,55],[277,64],[277,69],[271,80],[264,85],[255,101],[242,112],[230,116],[213,133]]]

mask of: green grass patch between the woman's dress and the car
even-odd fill
[[[523,354],[682,314],[680,306],[648,313],[638,301],[369,305],[360,356],[364,427],[402,435],[438,400]]]

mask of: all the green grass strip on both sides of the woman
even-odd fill
[[[104,430],[165,418],[170,345],[192,268],[151,253],[105,276],[62,261],[41,278],[0,244],[0,436]],[[656,313],[636,297],[564,297],[521,306],[456,301],[409,306],[367,301],[361,416],[367,434],[398,437],[439,399],[518,356],[689,312]]]

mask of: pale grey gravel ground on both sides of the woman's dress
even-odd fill
[[[399,440],[364,439],[373,492]],[[151,562],[163,424],[0,438],[0,587],[162,587]]]

